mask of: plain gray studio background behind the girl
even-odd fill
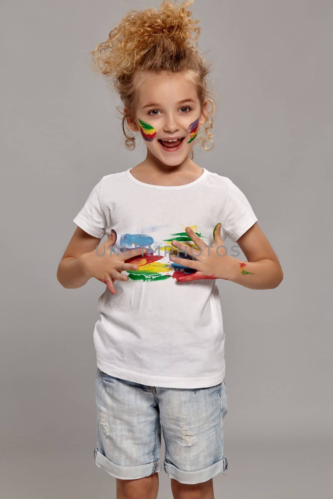
[[[93,457],[104,285],[64,289],[56,270],[92,187],[145,157],[141,137],[134,152],[120,145],[120,100],[93,75],[90,51],[129,9],[159,1],[1,5],[0,492],[115,498]],[[196,0],[191,10],[219,95],[215,148],[196,147],[194,161],[246,194],[284,271],[276,289],[219,282],[229,466],[215,497],[327,498],[333,5]],[[159,477],[159,498],[171,498]]]

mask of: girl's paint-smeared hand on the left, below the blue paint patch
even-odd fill
[[[135,263],[124,263],[124,261],[133,256],[143,254],[146,251],[145,248],[136,248],[134,250],[127,250],[126,254],[119,251],[118,255],[117,252],[112,251],[112,246],[116,241],[117,233],[112,229],[105,243],[99,245],[95,250],[82,255],[84,269],[89,278],[95,277],[99,281],[104,282],[112,294],[116,294],[113,285],[115,280],[128,280],[127,275],[123,275],[120,272],[122,270],[136,270],[138,268],[138,265]]]

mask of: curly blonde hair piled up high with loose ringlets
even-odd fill
[[[110,31],[108,39],[91,52],[92,69],[106,76],[127,109],[123,113],[117,108],[123,116],[124,143],[129,150],[135,148],[135,137],[126,133],[124,125],[126,117],[135,116],[142,70],[156,73],[184,72],[196,86],[201,108],[205,101],[211,107],[209,110],[205,106],[205,135],[202,137],[198,134],[195,142],[202,140],[206,151],[214,148],[210,129],[214,126],[212,114],[215,111],[215,94],[208,90],[206,83],[210,64],[197,47],[197,38],[201,32],[201,28],[196,26],[199,20],[192,20],[192,12],[186,8],[192,5],[193,0],[185,0],[178,8],[175,8],[175,2],[162,1],[160,10],[153,7],[143,11],[130,10]],[[212,142],[210,149],[206,147],[207,141]],[[193,150],[191,156],[193,159]]]

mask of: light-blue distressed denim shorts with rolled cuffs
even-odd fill
[[[225,380],[208,388],[164,388],[115,378],[97,367],[95,464],[133,480],[162,470],[182,484],[206,482],[228,467]]]

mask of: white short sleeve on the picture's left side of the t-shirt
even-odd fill
[[[100,193],[101,179],[90,192],[83,208],[73,219],[74,224],[94,238],[102,239],[105,236],[106,220],[101,208]]]

